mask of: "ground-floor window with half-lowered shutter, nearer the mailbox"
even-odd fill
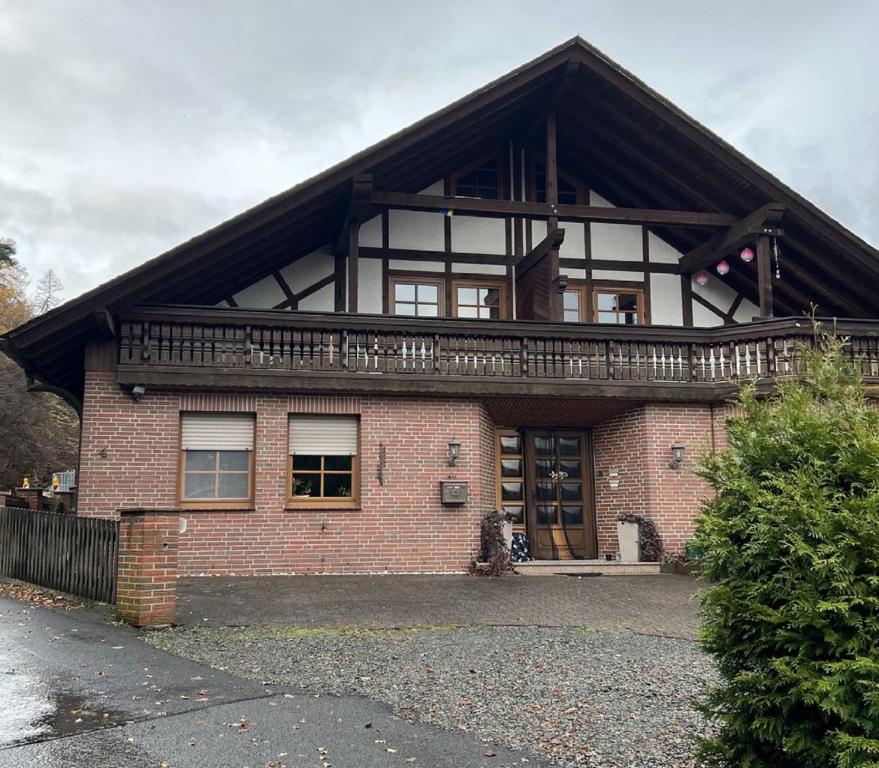
[[[290,416],[290,473],[294,506],[353,506],[358,498],[356,416]]]

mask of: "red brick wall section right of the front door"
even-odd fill
[[[616,519],[625,513],[652,519],[668,554],[692,538],[699,503],[709,492],[694,474],[701,452],[723,447],[725,408],[648,403],[595,427],[595,501],[598,552],[616,556]],[[670,469],[671,446],[683,443],[681,469]],[[619,487],[610,486],[610,470]]]

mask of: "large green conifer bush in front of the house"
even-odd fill
[[[702,647],[721,682],[704,765],[879,766],[879,412],[843,340],[753,387],[703,460]]]

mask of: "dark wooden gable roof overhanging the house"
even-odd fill
[[[7,334],[10,351],[46,382],[79,392],[95,315],[124,306],[216,303],[332,240],[356,174],[376,189],[417,191],[527,132],[571,64],[557,104],[559,162],[616,205],[734,213],[782,202],[786,279],[782,312],[806,297],[821,314],[879,316],[870,286],[879,252],[760,168],[580,37],[548,51],[326,171],[110,280]],[[659,231],[687,250],[705,234]],[[843,277],[845,276],[845,278]],[[755,293],[747,275],[737,290]]]

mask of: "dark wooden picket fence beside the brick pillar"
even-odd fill
[[[0,576],[116,601],[119,523],[0,507]]]

